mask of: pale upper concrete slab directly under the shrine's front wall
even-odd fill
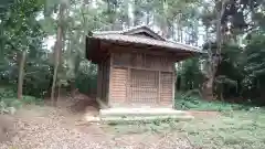
[[[108,108],[100,109],[99,116],[104,117],[129,117],[129,116],[186,116],[182,110],[174,110],[170,108]]]

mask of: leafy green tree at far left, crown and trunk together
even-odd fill
[[[28,8],[29,7],[29,8]],[[4,61],[10,66],[17,64],[18,70],[18,98],[22,98],[25,55],[31,50],[39,47],[43,35],[35,20],[42,9],[41,0],[18,0],[9,8],[1,20],[1,52]],[[1,60],[0,60],[1,61]]]

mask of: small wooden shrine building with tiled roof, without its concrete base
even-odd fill
[[[98,65],[97,100],[114,108],[172,108],[174,63],[199,53],[197,47],[166,41],[148,26],[86,38],[86,56]]]

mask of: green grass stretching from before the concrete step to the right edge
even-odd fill
[[[209,111],[211,113],[211,111]],[[103,126],[115,135],[172,134],[203,149],[264,149],[265,109],[231,110],[209,117],[200,116],[190,121],[155,120],[150,124]],[[173,138],[172,138],[173,140]]]

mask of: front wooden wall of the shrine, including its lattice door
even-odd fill
[[[109,106],[172,107],[173,58],[139,53],[112,53]]]

